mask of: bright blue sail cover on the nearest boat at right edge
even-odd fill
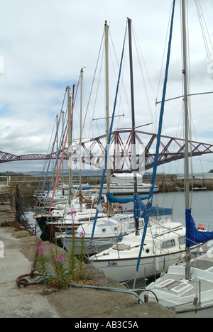
[[[185,225],[186,225],[186,243],[187,247],[197,245],[197,243],[204,243],[213,239],[213,232],[197,231],[195,221],[191,214],[192,209],[185,210]]]

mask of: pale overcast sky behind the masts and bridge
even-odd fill
[[[202,14],[209,33],[207,38],[212,40],[213,3],[212,0],[202,0],[200,3],[194,0],[188,1],[192,94],[213,91],[210,73],[213,67],[211,67],[213,52],[207,39],[212,55],[208,70],[208,55],[196,10],[196,4],[202,6]],[[62,107],[65,88],[67,85],[72,88],[72,84],[77,84],[81,67],[84,67],[83,112],[85,113],[105,20],[109,24],[110,32],[109,112],[111,114],[119,73],[114,53],[120,62],[126,17],[132,19],[133,42],[136,40],[138,43],[137,48],[133,46],[136,126],[153,122],[152,126],[144,127],[143,130],[156,132],[159,106],[155,107],[155,99],[160,101],[162,97],[165,72],[163,52],[164,49],[165,54],[167,52],[166,38],[171,6],[171,0],[2,0],[0,3],[0,151],[14,155],[47,153],[49,144],[53,143],[50,142],[51,133],[55,116],[60,113]],[[137,54],[141,62],[138,62]],[[128,61],[128,51],[126,51],[124,56],[126,72],[124,70],[122,75],[129,94]],[[163,70],[160,75],[162,62]],[[177,0],[166,99],[182,95],[181,63],[180,0]],[[95,103],[99,72],[100,96]],[[104,117],[104,62],[102,71],[99,69],[97,71],[95,84],[91,96],[92,106],[88,108],[89,116],[87,114],[84,125],[85,138],[102,135],[105,131],[104,121],[92,121],[92,118]],[[74,110],[75,138],[79,137],[79,97],[77,98]],[[114,129],[130,126],[131,116],[124,99],[122,93],[116,114],[125,114],[125,116],[116,118]],[[213,94],[195,96],[190,101],[192,139],[210,144],[213,144],[212,101]],[[66,102],[67,100],[65,104]],[[166,103],[163,123],[164,135],[175,137],[182,135],[182,100],[176,99]],[[148,138],[143,138],[145,145],[147,140]],[[203,171],[209,172],[213,168],[213,156],[202,156],[201,160]],[[194,170],[202,172],[198,164],[200,158],[195,159]],[[42,165],[43,162],[38,161],[7,162],[0,165],[0,172],[41,170]],[[173,166],[173,163],[171,165],[161,167],[160,170],[176,172],[176,166]]]

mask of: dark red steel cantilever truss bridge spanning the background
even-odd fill
[[[141,136],[146,137],[148,143],[143,144]],[[148,138],[148,140],[147,140]],[[155,141],[157,134],[146,133],[143,131],[136,131],[136,164],[145,163],[144,169],[148,170],[153,167],[155,158]],[[208,143],[200,143],[190,140],[190,150],[192,156],[204,155],[213,153],[213,145]],[[81,153],[80,153],[81,150]],[[138,150],[140,150],[138,152]],[[70,153],[72,161],[80,162],[80,155],[82,162],[93,167],[104,168],[106,152],[106,135],[99,136],[92,140],[82,142],[82,148],[79,145],[72,145]],[[60,151],[59,158],[62,151]],[[56,158],[57,153],[53,154]],[[109,167],[111,172],[130,171],[133,166],[132,158],[132,131],[122,130],[114,131],[111,134],[111,143],[109,149]],[[182,138],[173,138],[170,136],[161,135],[160,138],[160,153],[158,157],[158,165],[179,160],[185,156],[185,141]],[[11,153],[4,153],[0,151],[0,163],[19,161],[19,160],[50,160],[51,155],[45,154],[30,154],[30,155],[12,155]],[[65,149],[64,159],[68,160],[68,149]]]

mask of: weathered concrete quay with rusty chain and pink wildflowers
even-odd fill
[[[4,205],[4,208],[9,213],[9,206]],[[11,218],[11,213],[9,215]],[[4,223],[3,219],[0,213],[0,223]],[[1,318],[178,318],[177,314],[158,303],[138,304],[133,294],[85,287],[69,287],[55,292],[43,284],[18,288],[16,278],[31,272],[40,238],[16,226],[4,226],[0,227],[0,240]],[[47,253],[55,246],[48,241],[43,245]],[[68,255],[61,248],[60,253],[63,258]],[[92,276],[94,284],[126,289],[119,282],[105,277],[101,270],[90,265],[85,267],[85,273]]]

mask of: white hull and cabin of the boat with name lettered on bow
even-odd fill
[[[98,267],[106,277],[118,282],[133,280],[141,247],[141,237],[131,233],[113,245],[89,258],[92,266]],[[195,245],[193,253],[205,250],[206,245]],[[169,218],[160,221],[150,221],[143,245],[141,261],[138,269],[138,279],[151,278],[167,271],[170,265],[179,262],[185,255],[185,227],[182,223],[174,223]]]

